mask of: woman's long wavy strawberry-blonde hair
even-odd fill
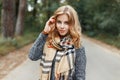
[[[66,14],[69,19],[69,35],[72,38],[72,42],[75,46],[75,48],[80,48],[81,46],[81,26],[78,19],[77,12],[75,9],[70,5],[65,5],[59,7],[53,14],[54,18],[57,19],[59,15]],[[56,24],[54,25],[54,28],[51,30],[51,32],[48,35],[47,41],[50,43],[57,44],[58,42],[55,41],[55,38],[59,37],[58,31],[56,29]],[[54,46],[54,45],[53,45]]]

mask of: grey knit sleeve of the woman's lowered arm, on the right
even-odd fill
[[[86,55],[85,48],[76,49],[75,59],[75,80],[85,80],[86,75]]]

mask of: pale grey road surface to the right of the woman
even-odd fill
[[[112,52],[88,40],[86,80],[120,80],[120,53]]]

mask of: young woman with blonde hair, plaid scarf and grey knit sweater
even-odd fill
[[[73,7],[59,7],[46,22],[29,58],[40,61],[40,80],[85,80],[86,55]]]

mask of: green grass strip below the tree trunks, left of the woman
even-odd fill
[[[23,36],[17,36],[14,39],[7,40],[0,36],[0,56],[4,56],[15,49],[19,49],[33,42],[37,36],[38,33],[27,33]]]

